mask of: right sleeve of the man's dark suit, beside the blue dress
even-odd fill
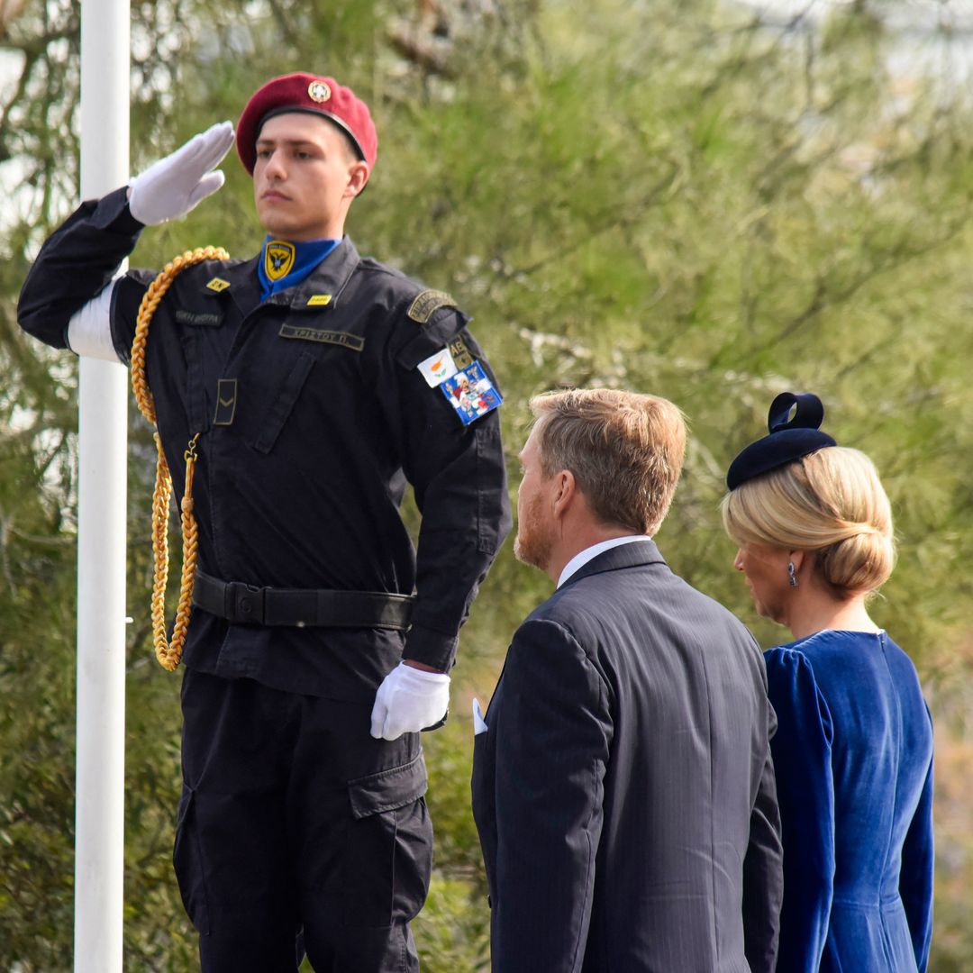
[[[780,812],[770,745],[776,718],[770,704],[767,713],[767,754],[750,813],[750,843],[743,859],[743,950],[752,973],[774,973],[783,899]]]

